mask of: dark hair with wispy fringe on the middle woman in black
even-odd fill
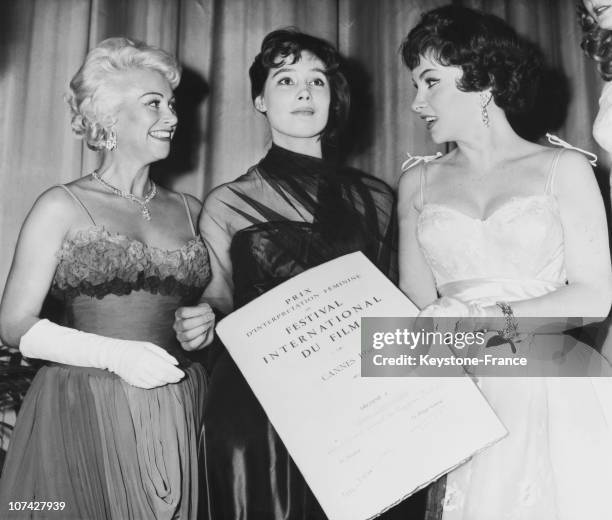
[[[261,42],[261,52],[255,56],[249,68],[251,97],[253,101],[264,89],[270,70],[277,69],[287,60],[293,64],[303,51],[310,52],[325,65],[325,76],[329,81],[331,100],[329,119],[321,133],[321,141],[327,145],[337,142],[346,126],[350,108],[350,91],[341,71],[341,58],[329,42],[300,32],[295,27],[279,29],[267,34]]]

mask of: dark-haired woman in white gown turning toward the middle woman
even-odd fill
[[[508,339],[521,317],[607,315],[606,217],[589,164],[525,141],[508,122],[529,107],[537,53],[501,19],[449,6],[423,16],[402,55],[413,111],[434,142],[457,145],[400,181],[404,292],[423,315],[503,317]],[[548,336],[551,359],[564,338]],[[606,368],[584,345],[573,353]],[[609,382],[480,378],[509,434],[448,474],[443,519],[612,518]]]

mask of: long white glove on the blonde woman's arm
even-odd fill
[[[66,365],[110,370],[140,388],[155,388],[180,381],[185,373],[164,349],[147,341],[107,338],[51,323],[36,322],[21,337],[25,357]]]

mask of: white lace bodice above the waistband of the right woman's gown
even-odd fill
[[[489,277],[565,281],[563,228],[552,195],[510,199],[485,220],[428,203],[417,236],[438,286]]]

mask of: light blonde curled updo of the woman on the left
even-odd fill
[[[73,132],[95,151],[104,149],[115,123],[117,92],[113,76],[131,69],[148,69],[164,76],[174,90],[181,80],[176,59],[157,47],[128,38],[108,38],[92,49],[70,82],[66,97]]]

